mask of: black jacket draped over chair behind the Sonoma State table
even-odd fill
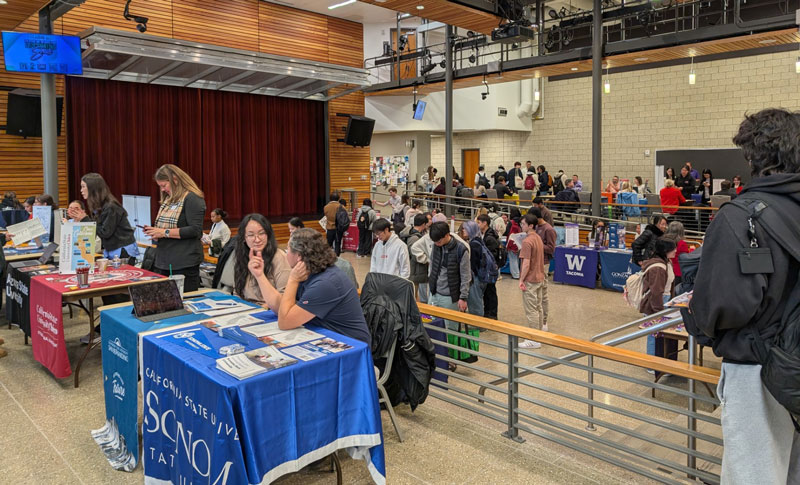
[[[397,341],[386,392],[393,406],[406,402],[413,411],[428,397],[435,368],[433,342],[422,326],[414,285],[399,276],[368,273],[361,308],[372,335],[372,359],[381,371]]]

